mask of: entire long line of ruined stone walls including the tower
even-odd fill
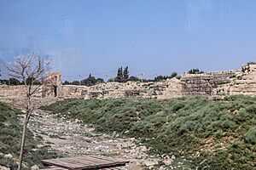
[[[19,96],[22,86],[0,86],[1,96]],[[162,82],[106,82],[95,86],[62,85],[61,73],[51,72],[38,92],[38,98],[110,99],[142,97],[172,99],[203,95],[221,98],[230,94],[256,95],[256,65],[243,65],[241,70],[183,74],[180,79]]]

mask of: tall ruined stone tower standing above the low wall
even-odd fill
[[[61,72],[49,72],[43,84],[44,97],[59,97],[61,94]]]

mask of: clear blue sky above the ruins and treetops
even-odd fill
[[[240,69],[256,60],[254,0],[0,0],[0,69],[35,52],[63,80]],[[1,68],[2,67],[2,68]]]

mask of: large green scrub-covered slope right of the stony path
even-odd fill
[[[255,105],[255,97],[238,95],[222,101],[200,97],[66,99],[44,109],[79,118],[98,131],[141,139],[152,154],[185,158],[192,169],[253,169]]]

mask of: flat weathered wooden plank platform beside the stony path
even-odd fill
[[[42,163],[48,166],[63,167],[66,169],[119,169],[129,161],[113,159],[106,156],[76,156],[51,160],[43,160]]]

